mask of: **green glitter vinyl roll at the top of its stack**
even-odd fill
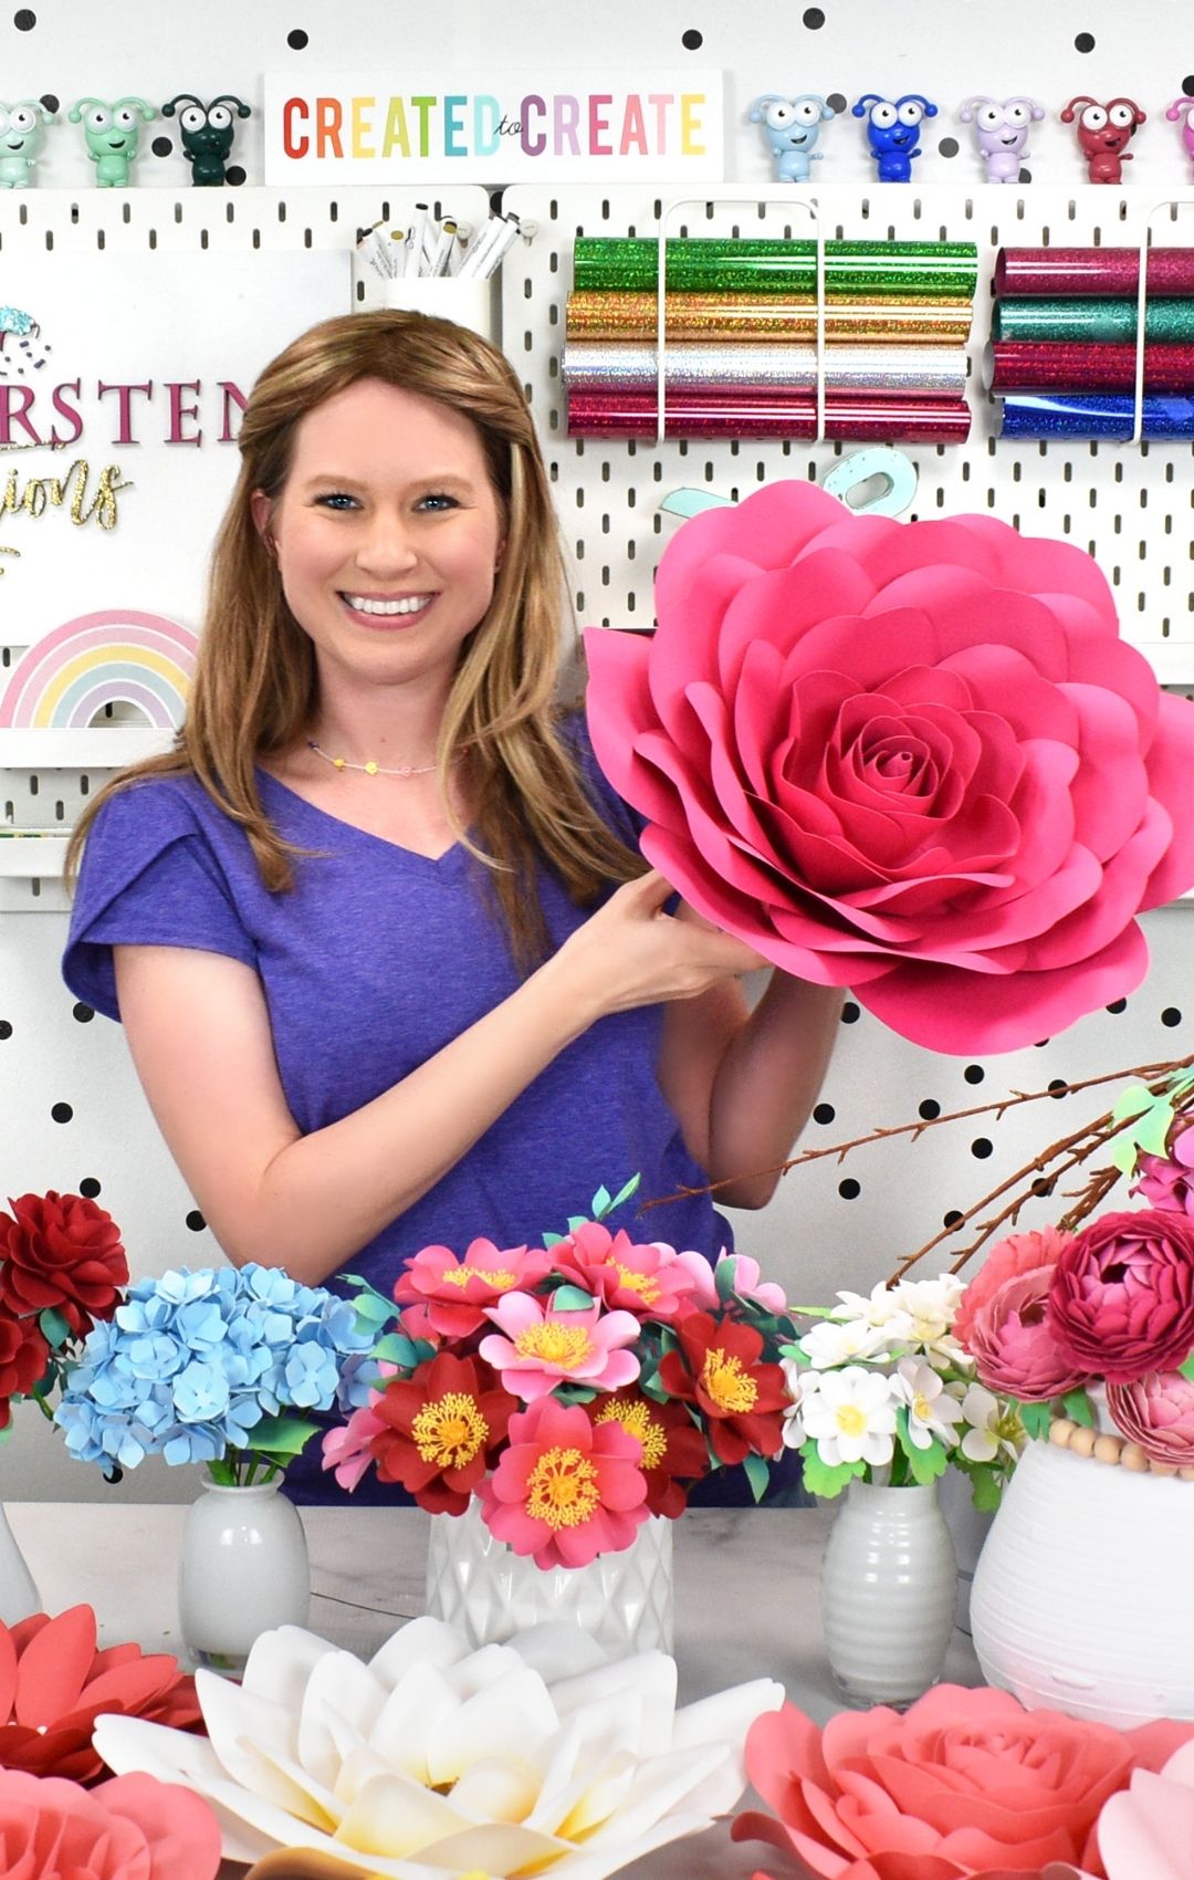
[[[816,243],[733,241],[698,237],[669,241],[669,293],[788,293],[816,291]],[[658,286],[658,241],[577,235],[573,286],[587,291],[651,293]],[[906,293],[974,293],[974,243],[827,241],[825,288],[901,299]]]

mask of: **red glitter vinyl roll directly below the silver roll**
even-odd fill
[[[568,436],[651,438],[658,404],[649,391],[568,395]],[[965,399],[886,399],[835,393],[825,399],[825,438],[901,444],[965,444]],[[684,391],[666,404],[668,438],[816,438],[816,400],[807,393]]]

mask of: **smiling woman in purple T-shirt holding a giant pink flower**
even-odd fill
[[[534,1241],[636,1169],[760,1207],[745,1171],[803,1124],[839,998],[775,974],[748,1015],[758,955],[666,912],[557,713],[562,564],[506,359],[329,320],[239,446],[179,748],[85,816],[64,964],[228,1258],[389,1292],[423,1245]],[[730,1239],[707,1196],[647,1220]]]

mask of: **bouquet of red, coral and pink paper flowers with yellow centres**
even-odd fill
[[[594,1216],[636,1186],[600,1190]],[[376,1466],[432,1513],[476,1496],[542,1568],[628,1547],[716,1468],[743,1465],[760,1496],[782,1453],[795,1324],[743,1254],[711,1267],[575,1218],[543,1246],[425,1246],[393,1303],[355,1284],[389,1376],[323,1438],[323,1466],[348,1489]]]

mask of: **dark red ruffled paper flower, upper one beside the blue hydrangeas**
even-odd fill
[[[17,1314],[62,1312],[77,1339],[111,1318],[128,1282],[120,1230],[81,1194],[23,1194],[0,1213],[0,1303]]]

